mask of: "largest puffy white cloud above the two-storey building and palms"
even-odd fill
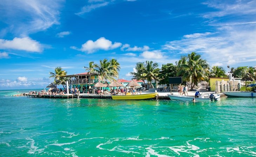
[[[75,46],[71,46],[70,48],[79,50],[82,52],[93,53],[97,50],[113,50],[117,47],[120,47],[122,43],[112,42],[104,37],[97,39],[95,42],[93,40],[88,40],[85,44],[82,45],[81,48],[77,48]]]

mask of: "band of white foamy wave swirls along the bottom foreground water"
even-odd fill
[[[63,136],[65,133],[70,136]],[[60,142],[47,141],[44,143],[41,140],[41,136],[47,134],[54,134],[59,137],[68,137]],[[101,154],[101,151],[109,155],[129,155],[136,156],[140,154],[142,156],[158,156],[158,157],[169,157],[169,156],[238,156],[238,155],[250,155],[256,156],[255,146],[241,146],[241,147],[220,147],[221,141],[213,140],[209,137],[206,138],[194,138],[188,141],[178,141],[171,139],[170,137],[159,137],[159,138],[140,138],[140,136],[135,137],[87,137],[88,133],[85,135],[80,135],[79,133],[69,133],[65,131],[50,132],[50,133],[38,133],[32,137],[26,138],[28,142],[25,146],[18,148],[28,149],[28,154],[48,154],[48,155],[61,155],[66,156],[79,156],[78,149],[88,149],[88,150],[99,150],[97,151]],[[72,136],[72,137],[71,137]],[[81,138],[82,137],[82,138]],[[43,138],[43,137],[42,137]],[[49,139],[48,139],[49,140]],[[36,142],[38,141],[38,142]],[[209,144],[207,144],[209,143]],[[219,146],[219,147],[218,147]],[[120,154],[121,153],[121,154]]]

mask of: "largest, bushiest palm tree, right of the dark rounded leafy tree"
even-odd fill
[[[209,65],[206,60],[201,58],[201,55],[192,52],[188,57],[182,57],[182,61],[178,65],[178,76],[183,76],[186,81],[191,81],[191,88],[197,85],[199,81],[206,80],[209,73]],[[185,61],[186,60],[186,61]]]

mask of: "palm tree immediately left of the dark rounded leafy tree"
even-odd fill
[[[154,80],[156,82],[157,85],[157,80],[158,80],[158,74],[160,69],[157,68],[158,64],[157,63],[153,63],[153,61],[146,61],[145,64],[145,69],[144,72],[141,74],[142,77],[146,78],[149,87],[152,86],[152,80]],[[153,87],[154,88],[154,87]]]

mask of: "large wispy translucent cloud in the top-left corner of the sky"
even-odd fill
[[[27,36],[59,24],[59,8],[63,0],[2,0],[0,14],[8,23],[6,32]]]

